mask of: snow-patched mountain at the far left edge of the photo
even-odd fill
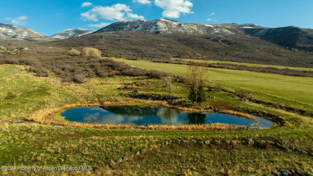
[[[30,39],[42,37],[46,36],[26,27],[0,23],[0,39],[2,40]]]

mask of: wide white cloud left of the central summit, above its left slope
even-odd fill
[[[132,9],[125,4],[114,4],[112,6],[95,6],[91,10],[81,13],[82,20],[97,22],[98,19],[110,20],[110,21],[124,21],[131,17],[136,17],[135,19],[143,19],[143,16],[138,16],[136,14],[130,13]],[[127,16],[125,16],[127,13]]]

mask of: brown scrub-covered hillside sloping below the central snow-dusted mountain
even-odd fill
[[[259,37],[237,35],[156,34],[148,31],[115,31],[85,35],[47,46],[96,47],[103,53],[137,58],[221,60],[313,68],[313,53],[292,51]]]

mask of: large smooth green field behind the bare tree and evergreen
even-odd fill
[[[186,75],[187,66],[114,58],[131,66]],[[205,78],[211,82],[283,97],[313,106],[313,78],[257,73],[251,71],[208,68]]]

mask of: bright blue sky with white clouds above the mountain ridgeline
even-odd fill
[[[313,0],[0,0],[0,23],[51,36],[122,20],[256,23],[313,28]]]

